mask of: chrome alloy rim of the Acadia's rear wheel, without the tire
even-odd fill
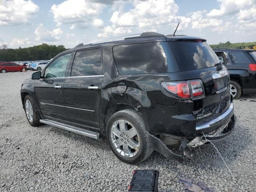
[[[135,127],[126,120],[117,120],[111,127],[115,150],[124,157],[134,157],[140,149],[140,138]]]

